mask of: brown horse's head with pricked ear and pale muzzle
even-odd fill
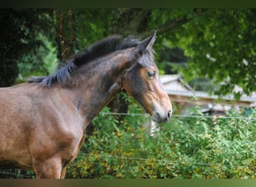
[[[124,73],[122,85],[152,116],[153,121],[162,123],[170,119],[172,106],[154,61],[152,46],[155,40],[156,31],[129,52],[129,68]]]

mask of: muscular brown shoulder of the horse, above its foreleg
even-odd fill
[[[41,96],[36,105],[43,117],[36,122],[31,136],[34,156],[43,159],[42,155],[50,157],[61,154],[62,159],[73,159],[84,137],[83,121],[76,106],[54,89],[42,91]]]

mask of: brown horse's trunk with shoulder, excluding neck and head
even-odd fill
[[[38,84],[1,88],[0,164],[8,160],[22,168],[38,168],[37,177],[59,178],[60,171],[45,168],[47,176],[37,162],[65,168],[76,156],[84,141],[84,120],[65,93],[55,90]]]

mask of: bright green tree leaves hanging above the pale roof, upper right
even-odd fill
[[[256,91],[255,18],[254,10],[211,9],[177,28],[168,40],[191,57],[183,76],[225,82],[218,95],[233,93],[234,85],[243,88],[237,97]]]

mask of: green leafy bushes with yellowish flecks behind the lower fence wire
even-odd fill
[[[141,126],[148,117],[127,115],[117,126],[115,116],[98,115],[67,177],[255,178],[256,111],[247,118],[233,118],[241,114],[231,111],[231,118],[214,120],[199,107],[190,112],[195,117],[161,124],[155,138]]]

